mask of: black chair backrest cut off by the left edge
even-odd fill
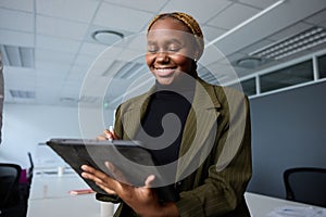
[[[20,199],[21,166],[0,164],[0,208],[15,205]]]

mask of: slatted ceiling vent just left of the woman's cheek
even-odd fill
[[[102,76],[112,76],[121,79],[133,79],[146,68],[146,64],[139,62],[114,61]]]

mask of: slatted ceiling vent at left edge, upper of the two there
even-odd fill
[[[28,68],[35,66],[34,48],[0,44],[0,51],[3,65]]]

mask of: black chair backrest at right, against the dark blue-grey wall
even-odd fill
[[[289,168],[284,182],[287,200],[326,207],[326,168]]]

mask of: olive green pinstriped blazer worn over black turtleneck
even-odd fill
[[[153,91],[118,106],[114,126],[118,138],[135,137]],[[197,79],[175,181],[181,217],[250,216],[243,197],[252,174],[249,114],[248,99],[241,92]],[[97,197],[121,202],[114,216],[137,216],[114,196]]]

